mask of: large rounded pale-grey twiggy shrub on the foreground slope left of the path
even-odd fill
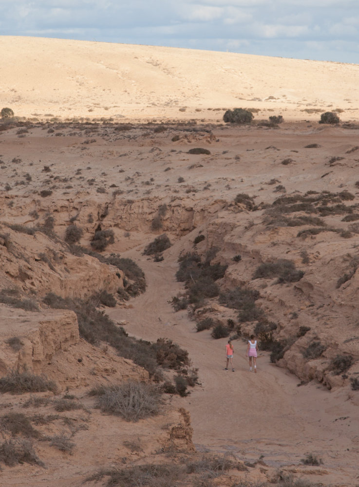
[[[122,416],[126,421],[138,421],[159,412],[160,397],[155,389],[141,382],[104,388],[96,401],[102,412]]]

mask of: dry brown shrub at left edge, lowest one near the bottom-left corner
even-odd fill
[[[44,464],[39,460],[30,440],[17,438],[15,440],[5,440],[0,445],[0,462],[8,467],[15,467],[19,463],[29,463],[30,465]]]

